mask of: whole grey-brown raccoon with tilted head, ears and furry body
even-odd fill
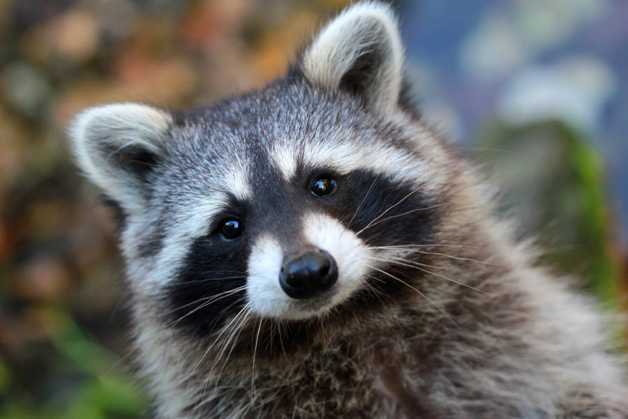
[[[394,12],[366,1],[263,89],[76,117],[157,418],[628,418],[595,303],[406,86]]]

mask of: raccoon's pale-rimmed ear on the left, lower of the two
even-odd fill
[[[133,213],[144,203],[148,172],[163,153],[172,116],[137,103],[91,107],[70,125],[74,153],[85,174]]]

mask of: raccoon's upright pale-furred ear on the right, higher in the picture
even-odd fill
[[[314,37],[301,66],[315,84],[351,91],[375,112],[393,114],[403,79],[403,45],[393,11],[371,1],[347,8]]]

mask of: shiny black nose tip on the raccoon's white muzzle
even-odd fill
[[[292,298],[310,298],[331,288],[338,280],[338,267],[331,254],[314,250],[283,262],[279,284]]]

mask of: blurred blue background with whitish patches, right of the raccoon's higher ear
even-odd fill
[[[462,144],[494,119],[561,119],[597,146],[628,231],[628,3],[401,1],[428,119]]]

